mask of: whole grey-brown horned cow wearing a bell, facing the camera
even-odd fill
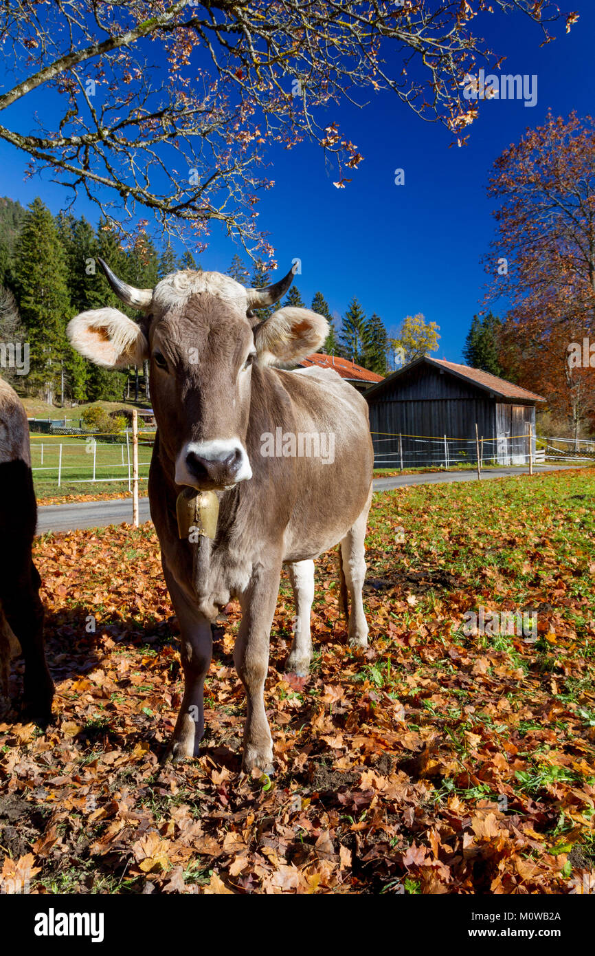
[[[297,615],[288,670],[308,670],[313,558],[338,543],[351,597],[349,640],[367,644],[367,404],[330,370],[273,367],[314,352],[328,333],[326,320],[307,309],[254,318],[253,308],[286,292],[293,272],[261,290],[218,272],[176,272],[153,291],[133,289],[101,265],[119,298],[145,315],[137,324],[115,309],[98,309],[77,315],[68,331],[74,348],[97,364],[151,360],[158,435],[149,497],[180,621],[185,681],[168,754],[198,753],[210,622],[238,597],[243,618],[234,660],[247,696],[243,767],[269,772],[264,687],[282,565]],[[181,495],[184,489],[194,498]],[[189,517],[186,506],[194,510]]]

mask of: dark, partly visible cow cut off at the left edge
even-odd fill
[[[36,523],[27,414],[16,392],[0,379],[0,691],[8,696],[18,641],[25,659],[25,710],[47,723],[53,682],[43,646],[41,581],[32,562]]]

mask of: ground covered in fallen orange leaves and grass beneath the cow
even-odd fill
[[[0,724],[0,862],[32,892],[569,893],[595,885],[595,471],[374,496],[371,647],[317,561],[308,680],[266,707],[278,766],[240,774],[238,625],[218,625],[202,755],[159,765],[181,700],[151,525],[47,535],[56,723]],[[524,610],[537,638],[463,633]],[[93,619],[96,631],[93,632]],[[14,688],[20,664],[14,667]]]

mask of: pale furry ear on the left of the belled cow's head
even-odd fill
[[[141,365],[149,358],[143,330],[117,309],[81,312],[66,330],[73,348],[85,359],[106,368]]]

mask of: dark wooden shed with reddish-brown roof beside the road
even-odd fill
[[[405,467],[476,462],[476,424],[484,461],[524,465],[529,425],[535,453],[535,406],[545,401],[477,368],[427,356],[372,385],[365,397],[376,467],[393,467],[401,453]]]

